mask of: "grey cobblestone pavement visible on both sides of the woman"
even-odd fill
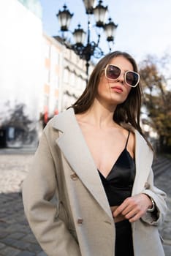
[[[20,185],[28,173],[33,154],[1,154],[0,150],[0,256],[46,256],[37,244],[23,212]],[[156,159],[155,184],[167,192],[171,209],[171,159]],[[164,252],[171,255],[171,211],[159,228]]]

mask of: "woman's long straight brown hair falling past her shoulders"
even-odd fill
[[[129,53],[114,51],[113,53],[109,53],[104,56],[94,67],[93,72],[88,80],[88,84],[86,89],[83,91],[83,94],[77,99],[77,101],[71,106],[74,108],[75,113],[84,113],[86,110],[91,108],[91,105],[94,102],[94,99],[97,94],[97,88],[99,86],[99,79],[102,74],[102,70],[106,67],[107,64],[110,63],[110,60],[123,56],[127,59],[133,66],[133,70],[138,72],[137,64],[129,55]],[[141,95],[142,90],[140,87],[140,83],[132,88],[129,92],[126,100],[117,106],[115,109],[115,113],[113,113],[113,120],[117,124],[132,124],[132,127],[137,129],[140,134],[145,138],[145,135],[142,133],[142,129],[140,127],[140,108],[141,108]],[[145,138],[145,140],[147,140]],[[148,142],[148,140],[147,140]],[[150,143],[148,145],[151,147]]]

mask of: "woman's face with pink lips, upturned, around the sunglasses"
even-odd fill
[[[99,80],[96,99],[103,104],[116,106],[126,100],[132,87],[128,86],[124,80],[126,71],[134,71],[132,63],[123,56],[117,56],[110,61],[121,69],[121,75],[116,80],[105,78],[104,72]]]

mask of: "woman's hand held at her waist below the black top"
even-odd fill
[[[148,195],[138,194],[132,197],[126,198],[118,208],[113,211],[113,217],[117,217],[119,214],[123,215],[129,222],[136,222],[152,207],[151,199]]]

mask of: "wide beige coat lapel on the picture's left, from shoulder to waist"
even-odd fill
[[[53,127],[61,131],[61,136],[56,140],[56,143],[64,153],[69,165],[99,205],[113,218],[94,159],[77,124],[74,110],[69,108],[64,113],[59,114]]]

